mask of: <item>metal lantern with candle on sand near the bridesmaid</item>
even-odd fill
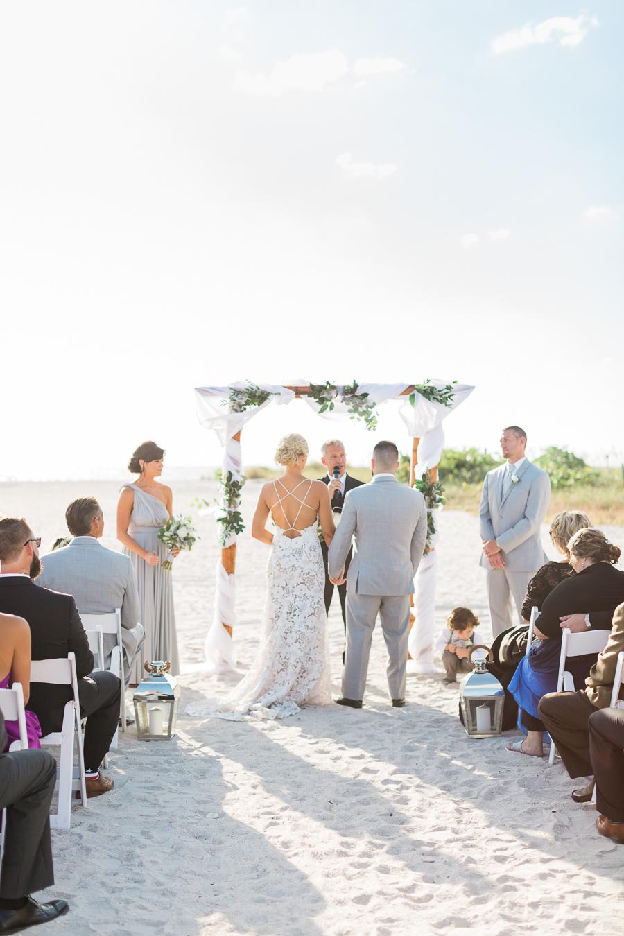
[[[176,733],[180,686],[175,677],[168,675],[168,661],[156,660],[143,666],[149,675],[133,695],[137,734],[142,741],[165,741]]]

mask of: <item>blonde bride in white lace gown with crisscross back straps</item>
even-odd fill
[[[317,534],[329,546],[336,532],[327,485],[302,475],[308,443],[285,435],[275,453],[284,473],[263,485],[252,535],[270,547],[265,606],[257,659],[219,703],[221,718],[286,718],[303,705],[331,702],[325,571]],[[275,532],[269,533],[267,521]]]

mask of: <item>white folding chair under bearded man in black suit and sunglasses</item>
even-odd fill
[[[87,790],[84,782],[84,759],[82,756],[82,728],[80,724],[80,698],[76,657],[68,653],[66,659],[33,660],[30,665],[31,682],[48,682],[56,686],[71,686],[73,698],[65,703],[63,727],[40,738],[41,747],[60,747],[58,776],[58,812],[50,816],[51,828],[69,828],[71,822],[71,795],[80,791],[83,806],[87,805]],[[78,751],[78,776],[74,776],[74,748]]]

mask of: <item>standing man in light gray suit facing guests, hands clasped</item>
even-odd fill
[[[492,636],[513,626],[510,598],[518,616],[527,585],[548,562],[540,527],[550,501],[550,478],[525,456],[527,433],[508,426],[501,435],[506,461],[486,474],[479,508],[487,569],[487,598]]]

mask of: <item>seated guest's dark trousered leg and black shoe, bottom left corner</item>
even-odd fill
[[[0,751],[7,736],[0,712]],[[47,751],[0,754],[0,810],[7,810],[0,876],[0,933],[48,923],[69,909],[65,900],[37,903],[30,895],[54,884],[50,804],[56,761]]]

